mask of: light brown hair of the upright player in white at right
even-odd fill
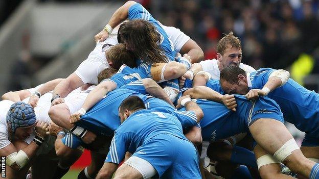
[[[224,55],[225,49],[227,49],[229,46],[231,46],[231,48],[236,47],[241,49],[240,40],[234,35],[233,32],[223,35],[224,37],[221,38],[217,43],[216,49],[218,53]]]

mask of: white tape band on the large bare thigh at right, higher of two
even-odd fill
[[[283,146],[281,146],[274,154],[274,157],[279,160],[279,162],[283,162],[288,156],[291,155],[291,152],[299,149],[299,146],[294,141],[294,139],[288,140]]]

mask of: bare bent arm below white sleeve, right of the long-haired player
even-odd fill
[[[188,54],[192,58],[192,63],[198,63],[204,60],[204,52],[203,50],[197,45],[197,43],[190,39],[188,40],[183,47],[181,47],[180,54]]]

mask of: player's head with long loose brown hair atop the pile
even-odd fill
[[[148,64],[168,61],[163,49],[158,45],[161,35],[156,32],[152,23],[143,19],[124,22],[118,36],[128,50]]]

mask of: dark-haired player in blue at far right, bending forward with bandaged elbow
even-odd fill
[[[246,73],[230,66],[222,72],[220,83],[228,93],[245,94],[249,99],[265,95],[274,99],[281,107],[285,120],[306,133],[301,146],[303,154],[310,160],[318,161],[317,93],[290,79],[288,71],[271,68]]]

